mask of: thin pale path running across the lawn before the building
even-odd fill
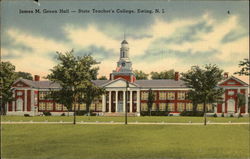
[[[19,122],[11,122],[11,121],[4,121],[1,124],[72,124],[72,122],[36,122],[36,121],[19,121]],[[76,124],[86,124],[86,125],[124,125],[124,122],[76,122]],[[129,125],[204,125],[204,123],[167,123],[167,122],[128,122]],[[213,123],[207,122],[207,125],[250,125],[249,122],[241,122],[241,123]]]

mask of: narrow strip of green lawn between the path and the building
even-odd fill
[[[99,122],[123,122],[124,117],[101,117],[101,116],[77,116],[77,121],[99,121]],[[23,116],[2,116],[2,121],[73,121],[72,116],[34,116],[34,117],[23,117]],[[210,122],[249,122],[249,118],[234,118],[234,117],[208,117]],[[174,116],[145,116],[145,117],[128,117],[128,122],[169,122],[169,123],[188,123],[192,121],[193,123],[203,122],[203,117],[174,117]]]

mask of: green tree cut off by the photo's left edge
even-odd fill
[[[15,66],[12,65],[10,62],[1,62],[0,65],[0,98],[1,98],[1,114],[6,114],[6,108],[5,105],[14,100],[12,97],[12,90],[11,86],[16,80],[16,74],[15,74]]]

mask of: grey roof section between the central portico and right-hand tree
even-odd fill
[[[159,79],[159,80],[136,80],[135,83],[142,88],[151,87],[174,87],[174,88],[187,88],[182,80],[173,79]]]

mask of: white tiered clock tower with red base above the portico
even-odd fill
[[[110,79],[123,78],[129,82],[134,82],[135,75],[132,70],[132,62],[129,59],[129,45],[124,39],[120,48],[120,59],[117,62],[117,68],[110,74]]]

